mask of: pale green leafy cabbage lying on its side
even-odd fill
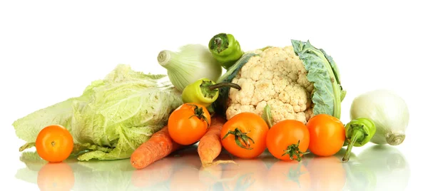
[[[16,120],[16,135],[28,142],[21,150],[34,145],[42,128],[58,124],[73,135],[78,160],[130,158],[183,103],[166,77],[118,65],[103,80],[93,81],[80,97]]]

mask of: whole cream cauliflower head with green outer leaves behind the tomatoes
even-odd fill
[[[241,87],[220,89],[215,101],[215,112],[228,120],[243,112],[268,115],[264,113],[266,105],[270,106],[272,124],[282,120],[306,124],[320,113],[340,119],[340,105],[346,95],[333,58],[309,41],[292,40],[292,46],[247,52],[220,77],[220,82]]]

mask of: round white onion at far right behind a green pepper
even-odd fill
[[[406,138],[409,109],[393,91],[379,89],[357,96],[352,101],[350,118],[360,117],[370,118],[376,125],[372,143],[399,145]]]

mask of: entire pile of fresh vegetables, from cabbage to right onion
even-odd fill
[[[215,161],[223,149],[242,159],[268,150],[300,162],[307,153],[331,156],[346,146],[346,162],[352,147],[404,141],[409,111],[402,98],[364,93],[342,123],[346,91],[337,64],[309,41],[291,44],[243,51],[233,35],[218,33],[208,46],[161,51],[158,63],[168,75],[119,65],[81,96],[16,120],[16,135],[27,142],[20,150],[35,146],[49,162],[130,158],[142,169],[195,144],[207,167],[233,162]]]

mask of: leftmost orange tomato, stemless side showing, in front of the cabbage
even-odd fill
[[[49,162],[66,160],[73,151],[73,137],[61,125],[49,125],[36,138],[36,151]]]

